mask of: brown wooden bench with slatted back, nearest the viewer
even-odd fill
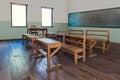
[[[74,63],[77,64],[78,59],[86,58],[86,39],[84,36],[77,34],[64,34],[61,50],[74,55]]]

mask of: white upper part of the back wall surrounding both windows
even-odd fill
[[[0,21],[10,21],[10,3],[28,4],[28,21],[41,22],[41,6],[54,8],[54,21],[66,21],[65,0],[0,0]]]

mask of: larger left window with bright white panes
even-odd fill
[[[11,3],[11,26],[27,27],[27,5]]]

